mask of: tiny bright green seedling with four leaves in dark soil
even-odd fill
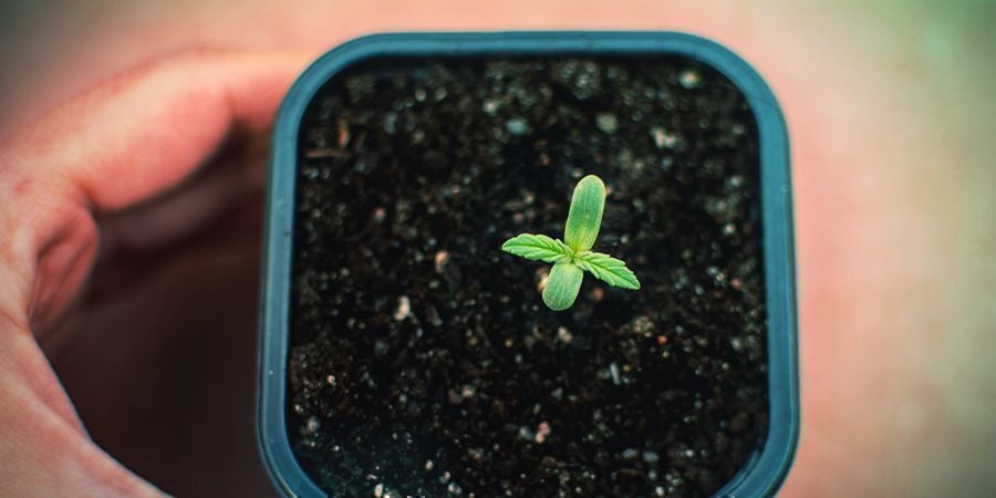
[[[588,175],[578,181],[571,196],[563,241],[544,235],[521,234],[501,245],[501,250],[506,252],[553,263],[543,288],[543,302],[551,310],[567,310],[574,303],[584,271],[610,286],[640,289],[636,274],[626,268],[624,261],[591,251],[599,236],[604,208],[605,184],[598,176]]]

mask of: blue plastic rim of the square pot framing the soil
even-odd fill
[[[562,53],[627,58],[663,54],[696,60],[725,75],[750,104],[757,120],[760,153],[769,426],[764,444],[717,496],[769,496],[785,479],[799,433],[791,180],[785,121],[764,80],[729,50],[683,33],[396,33],[347,42],[315,61],[291,87],[274,125],[262,261],[257,428],[267,470],[284,495],[325,496],[297,461],[286,416],[298,131],[312,97],[344,69],[376,58]]]

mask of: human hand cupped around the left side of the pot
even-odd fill
[[[102,84],[0,147],[0,496],[160,494],[91,439],[81,406],[94,414],[93,424],[84,418],[98,443],[149,468],[165,461],[176,477],[193,474],[191,464],[170,444],[210,440],[178,416],[187,412],[176,396],[195,393],[189,409],[207,416],[235,392],[251,404],[252,206],[268,128],[303,62],[287,53],[180,53]],[[201,270],[177,272],[174,263],[191,251],[212,256],[194,266]],[[218,274],[242,290],[238,299],[210,294],[231,290],[212,283]],[[211,319],[185,308],[191,297],[211,299],[203,308],[219,314],[238,311],[245,326],[196,334],[191,320],[210,326]],[[108,319],[127,317],[122,307],[138,318]],[[158,311],[143,320],[149,310]],[[198,377],[232,367],[225,351],[249,372],[242,382]],[[251,430],[251,411],[243,416],[237,425]],[[232,425],[215,422],[220,432]],[[159,433],[136,437],[135,427]],[[136,446],[146,447],[127,449]]]

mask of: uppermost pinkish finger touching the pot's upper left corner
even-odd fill
[[[267,128],[304,61],[197,51],[133,71],[23,135],[15,167],[68,183],[97,210],[127,207],[176,185],[234,131]]]

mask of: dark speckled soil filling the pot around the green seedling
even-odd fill
[[[383,61],[303,124],[289,427],[343,497],[703,496],[767,424],[758,138],[684,60]],[[548,310],[574,184],[609,186],[585,277]]]

